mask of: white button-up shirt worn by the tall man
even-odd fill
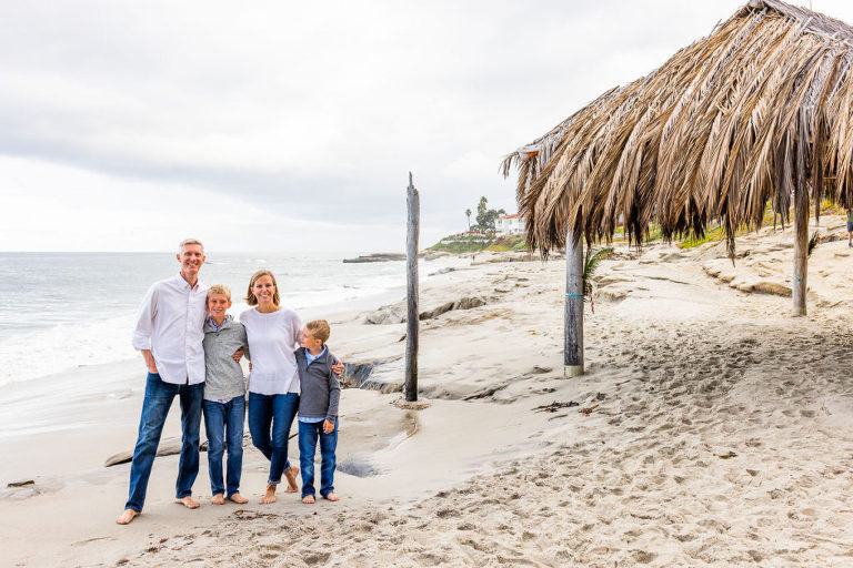
[[[133,347],[151,349],[160,378],[177,385],[204,382],[204,318],[208,287],[178,274],[154,283],[142,301]]]

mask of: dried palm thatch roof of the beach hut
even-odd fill
[[[853,204],[853,28],[777,0],[751,0],[642,79],[610,90],[508,155],[519,169],[528,242],[566,229],[633,242],[654,220],[664,239],[722,220],[783,219],[796,186]]]

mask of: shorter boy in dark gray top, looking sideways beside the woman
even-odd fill
[[[314,503],[314,454],[320,439],[320,495],[330,501],[334,493],[334,450],[338,446],[338,403],[341,385],[332,372],[338,358],[329,353],[329,322],[308,322],[299,339],[297,366],[299,397],[299,463],[302,467],[302,503]]]

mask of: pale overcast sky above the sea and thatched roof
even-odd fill
[[[0,251],[402,251],[409,171],[429,246],[744,1],[0,0]]]

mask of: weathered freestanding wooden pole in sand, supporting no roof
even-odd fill
[[[421,200],[412,183],[412,172],[409,172],[405,204],[409,210],[405,230],[405,399],[413,403],[418,400],[418,233],[421,222]]]

